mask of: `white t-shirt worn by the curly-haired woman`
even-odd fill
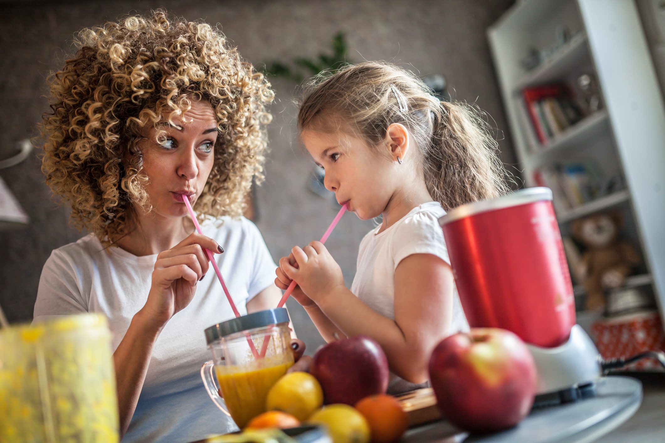
[[[221,226],[203,222],[201,230],[224,248],[223,254],[214,256],[243,315],[247,302],[274,284],[277,266],[253,222],[244,217],[221,220]],[[156,254],[139,257],[118,247],[104,250],[92,234],[54,250],[39,281],[35,320],[103,313],[115,351],[132,317],[146,303],[156,259]],[[212,357],[203,330],[233,317],[211,266],[192,302],[166,323],[154,345],[123,443],[192,442],[237,430],[210,400],[199,375],[201,365]]]

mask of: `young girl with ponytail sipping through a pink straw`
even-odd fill
[[[326,341],[378,341],[389,393],[414,389],[434,346],[468,327],[438,219],[507,191],[497,143],[472,108],[440,102],[412,73],[378,62],[320,80],[298,124],[338,203],[362,220],[383,217],[360,242],[350,290],[321,242],[281,258],[275,283],[297,282],[293,297]]]

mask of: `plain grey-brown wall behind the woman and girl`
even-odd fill
[[[54,2],[55,3],[55,2]],[[340,1],[61,1],[0,2],[0,157],[14,143],[35,135],[46,110],[45,76],[69,52],[73,34],[124,13],[146,13],[164,6],[188,19],[219,23],[223,32],[255,64],[316,56],[331,37],[346,31],[348,58],[389,60],[411,65],[420,74],[444,74],[454,96],[477,102],[493,118],[503,160],[513,152],[499,100],[485,29],[513,0],[340,0]],[[336,209],[307,191],[311,160],[297,138],[295,84],[275,79],[275,116],[269,126],[266,181],[257,189],[257,222],[275,259],[293,244],[318,239]],[[0,171],[31,217],[23,230],[0,232],[0,304],[9,321],[29,320],[41,268],[51,250],[81,234],[68,226],[68,213],[51,201],[36,156]],[[350,285],[358,242],[372,226],[346,215],[328,246]],[[297,304],[289,304],[296,329],[313,352],[322,343]]]

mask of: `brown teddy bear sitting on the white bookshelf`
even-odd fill
[[[618,233],[623,219],[618,211],[578,219],[571,225],[573,237],[586,248],[579,274],[587,290],[587,309],[602,310],[604,292],[619,288],[642,262],[640,253]]]

